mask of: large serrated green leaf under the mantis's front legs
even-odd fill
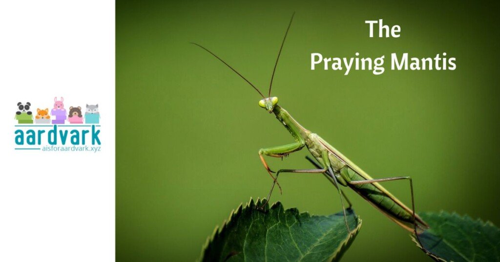
[[[262,201],[240,205],[220,230],[215,228],[201,251],[201,261],[326,261],[338,260],[354,240],[361,219],[346,210],[328,216],[283,209],[276,202],[263,210]]]

